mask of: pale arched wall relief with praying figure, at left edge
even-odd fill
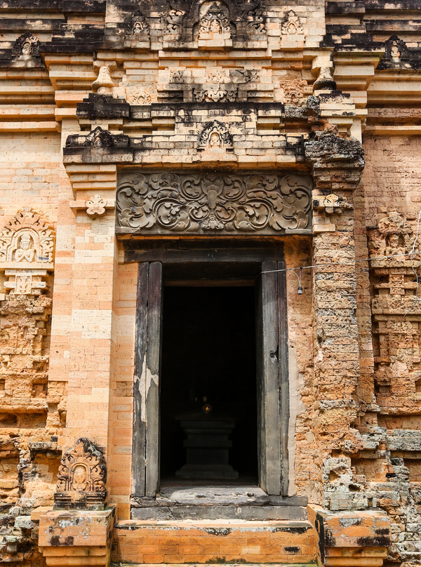
[[[0,262],[52,265],[54,243],[55,231],[48,220],[30,207],[22,208],[0,232]]]

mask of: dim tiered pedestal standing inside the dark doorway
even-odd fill
[[[179,479],[235,480],[238,472],[229,465],[229,435],[235,421],[216,415],[183,415],[178,418],[185,432],[186,464],[175,472]]]

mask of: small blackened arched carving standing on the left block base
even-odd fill
[[[107,465],[100,449],[86,437],[62,456],[54,495],[56,509],[102,509],[107,500]]]

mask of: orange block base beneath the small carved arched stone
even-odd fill
[[[48,566],[109,564],[115,506],[105,510],[52,510],[39,519],[39,549]]]

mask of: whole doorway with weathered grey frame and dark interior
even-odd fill
[[[165,479],[194,483],[206,482],[207,476],[214,482],[215,470],[209,474],[209,468],[215,466],[232,481],[236,473],[240,481],[257,476],[268,495],[287,495],[282,248],[163,242],[131,251],[127,258],[139,262],[133,502],[156,496]],[[201,420],[192,422],[192,413]],[[225,436],[215,446],[225,453],[212,459],[197,443],[207,427],[203,413],[216,421],[212,434]],[[198,464],[206,465],[201,479]]]

